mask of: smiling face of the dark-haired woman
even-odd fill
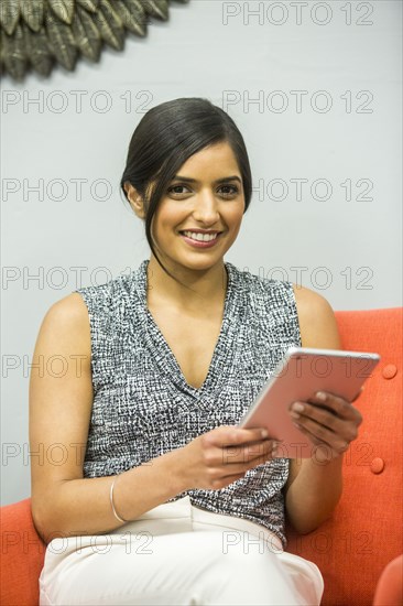
[[[205,148],[177,171],[153,217],[152,234],[163,263],[209,269],[222,263],[241,226],[242,177],[227,142]],[[195,231],[211,232],[195,241]],[[187,231],[187,234],[183,234]],[[190,231],[190,234],[189,234]],[[218,234],[217,234],[218,232]]]

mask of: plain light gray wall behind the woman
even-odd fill
[[[244,134],[257,190],[227,260],[302,280],[336,310],[401,304],[401,10],[192,0],[99,65],[3,79],[2,504],[30,495],[29,364],[45,312],[149,258],[118,184],[154,105],[207,97]]]

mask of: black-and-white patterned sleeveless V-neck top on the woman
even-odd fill
[[[196,389],[148,310],[148,264],[74,291],[87,305],[91,335],[94,403],[84,477],[120,474],[219,425],[236,425],[286,349],[301,345],[292,283],[225,262],[221,329],[207,377]],[[287,477],[288,459],[275,458],[225,488],[192,489],[166,502],[188,495],[197,507],[266,527],[285,545]]]

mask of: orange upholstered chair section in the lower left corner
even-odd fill
[[[1,605],[37,606],[45,549],[33,526],[31,499],[1,508]]]

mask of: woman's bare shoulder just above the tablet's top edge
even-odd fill
[[[303,347],[339,349],[340,338],[335,313],[319,293],[293,284]]]

